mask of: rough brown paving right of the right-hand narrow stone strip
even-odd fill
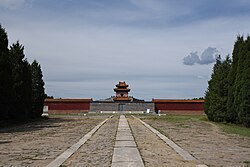
[[[143,119],[208,166],[250,166],[250,138],[227,134],[216,124]]]

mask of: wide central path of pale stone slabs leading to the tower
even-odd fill
[[[111,167],[144,167],[124,115],[120,116]]]

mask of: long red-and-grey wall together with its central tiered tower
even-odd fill
[[[102,100],[89,99],[45,99],[49,114],[94,113],[144,113],[204,114],[204,100],[153,99],[144,101],[129,96],[129,85],[119,81],[114,88],[115,96]]]

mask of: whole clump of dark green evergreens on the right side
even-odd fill
[[[209,120],[250,127],[250,36],[238,36],[232,59],[219,56],[205,93]]]

